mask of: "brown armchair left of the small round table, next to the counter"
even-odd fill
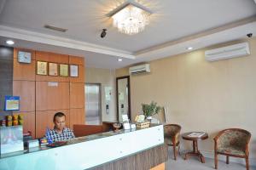
[[[180,136],[181,126],[177,124],[167,124],[164,126],[165,143],[173,147],[174,160],[177,157],[176,147],[178,147],[178,153],[180,155],[179,149],[179,136]]]

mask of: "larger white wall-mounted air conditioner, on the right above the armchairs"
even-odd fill
[[[250,54],[249,43],[242,42],[224,48],[215,48],[205,51],[207,61],[216,61],[220,59],[230,59],[246,56]]]

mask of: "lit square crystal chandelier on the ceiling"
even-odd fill
[[[129,3],[112,15],[113,26],[122,33],[134,35],[149,24],[150,14],[147,10]]]

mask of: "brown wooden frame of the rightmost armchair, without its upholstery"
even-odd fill
[[[246,141],[245,156],[237,156],[237,155],[233,155],[233,154],[229,154],[229,153],[218,152],[218,139],[219,139],[220,136],[222,136],[227,131],[234,131],[234,132],[238,131],[238,132],[241,132],[241,133],[247,133],[248,138],[247,138],[247,141]],[[246,168],[247,168],[247,170],[249,170],[249,150],[248,150],[248,145],[249,145],[250,139],[251,139],[251,133],[249,133],[247,130],[244,130],[244,129],[241,129],[241,128],[227,128],[227,129],[224,129],[223,131],[220,131],[218,133],[218,135],[213,139],[214,140],[215,169],[218,169],[218,154],[220,154],[220,155],[227,156],[226,157],[226,163],[227,164],[230,163],[230,156],[245,158],[245,160],[246,160]]]

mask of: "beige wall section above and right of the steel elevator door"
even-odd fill
[[[85,82],[102,84],[102,122],[114,122],[117,119],[116,113],[116,92],[115,92],[115,71],[109,69],[86,68]],[[112,88],[109,103],[109,114],[106,113],[105,88]]]

